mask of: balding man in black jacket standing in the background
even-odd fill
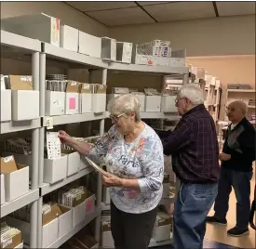
[[[219,193],[214,205],[214,216],[208,216],[207,222],[227,224],[229,195],[233,189],[236,194],[236,227],[229,229],[231,236],[249,233],[250,180],[252,163],[255,160],[255,129],[246,118],[247,105],[240,100],[230,103],[227,116],[228,126],[220,160],[222,161]]]

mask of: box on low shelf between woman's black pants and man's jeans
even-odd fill
[[[158,213],[153,229],[153,238],[156,242],[163,242],[170,239],[171,217],[165,213]]]

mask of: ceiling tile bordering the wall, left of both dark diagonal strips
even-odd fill
[[[107,26],[155,22],[140,7],[93,11],[87,14]]]

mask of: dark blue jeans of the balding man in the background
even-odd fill
[[[218,195],[215,200],[215,217],[225,219],[232,187],[236,194],[236,228],[247,229],[250,210],[250,179],[252,172],[236,172],[222,168]]]

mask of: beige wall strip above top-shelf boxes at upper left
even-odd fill
[[[1,2],[1,19],[41,12],[86,33],[96,36],[108,33],[106,26],[61,2]]]

